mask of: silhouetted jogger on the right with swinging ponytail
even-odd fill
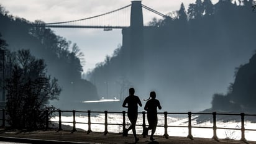
[[[146,128],[145,134],[147,135],[149,130],[152,130],[150,140],[155,140],[153,138],[153,134],[155,133],[155,130],[157,128],[157,107],[158,109],[162,109],[160,102],[155,99],[157,94],[155,94],[154,91],[150,92],[150,97],[149,99],[145,100],[147,101],[145,104],[144,109],[147,110],[147,120],[149,122],[149,127]]]

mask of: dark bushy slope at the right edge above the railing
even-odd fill
[[[235,81],[224,94],[214,94],[213,110],[226,110],[228,112],[256,112],[255,84],[256,84],[256,54],[250,62],[235,68]]]

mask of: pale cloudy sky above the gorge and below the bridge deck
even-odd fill
[[[143,0],[142,4],[156,11],[168,14],[180,9],[183,2],[185,8],[196,0]],[[217,0],[212,0],[216,3]],[[22,17],[34,22],[60,22],[83,19],[105,12],[119,9],[130,4],[130,0],[0,0],[0,4],[13,16]],[[152,12],[144,13],[144,23],[153,17]],[[85,54],[84,71],[93,69],[96,63],[104,61],[106,55],[112,55],[117,45],[122,45],[121,30],[103,31],[102,29],[53,29],[55,34],[77,43]]]

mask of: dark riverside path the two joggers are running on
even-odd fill
[[[142,135],[138,135],[140,138],[138,143],[185,143],[185,144],[221,144],[221,143],[245,143],[239,140],[227,140],[220,139],[219,141],[213,140],[211,138],[190,138],[186,137],[169,137],[166,139],[163,136],[155,136],[155,141],[151,142],[149,137],[143,138]],[[9,139],[8,139],[9,138]],[[19,142],[19,138],[22,138],[21,141],[25,143],[37,143],[35,141],[30,140],[41,140],[40,142],[45,143],[134,143],[133,135],[128,135],[128,137],[122,137],[121,133],[104,133],[101,132],[91,132],[87,134],[85,131],[77,131],[71,133],[71,131],[60,131],[56,130],[47,130],[47,131],[33,131],[33,132],[22,132],[19,130],[11,131],[0,129],[0,141],[12,142],[12,138],[15,138],[16,142]],[[27,141],[24,141],[27,140]],[[21,142],[20,141],[20,142]],[[0,142],[1,143],[1,142]],[[256,144],[256,142],[247,142]]]

